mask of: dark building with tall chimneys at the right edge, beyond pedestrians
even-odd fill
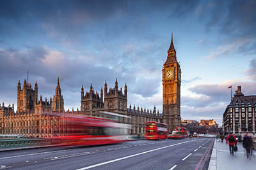
[[[244,96],[241,86],[223,113],[223,130],[239,134],[243,131],[255,132],[256,96]]]

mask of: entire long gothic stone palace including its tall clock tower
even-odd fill
[[[81,109],[80,111],[64,110],[64,99],[61,94],[60,81],[58,78],[57,86],[53,99],[49,101],[42,96],[38,99],[38,85],[35,83],[34,89],[31,83],[23,82],[23,88],[18,81],[17,85],[17,111],[12,106],[0,104],[0,134],[22,134],[29,138],[41,138],[51,136],[65,136],[67,129],[61,128],[65,124],[65,119],[58,117],[56,113],[90,115],[97,116],[100,111],[119,113],[131,117],[127,119],[127,124],[131,124],[130,134],[142,134],[143,125],[148,121],[163,122],[168,125],[168,132],[172,132],[175,127],[180,125],[180,73],[181,69],[177,62],[176,51],[173,46],[173,36],[168,56],[163,65],[163,113],[145,108],[127,108],[127,85],[125,83],[124,92],[122,87],[118,89],[118,82],[115,87],[108,89],[105,81],[104,89],[100,89],[100,94],[93,90],[92,83],[90,91],[84,93],[81,88]],[[57,127],[57,128],[56,128]]]

